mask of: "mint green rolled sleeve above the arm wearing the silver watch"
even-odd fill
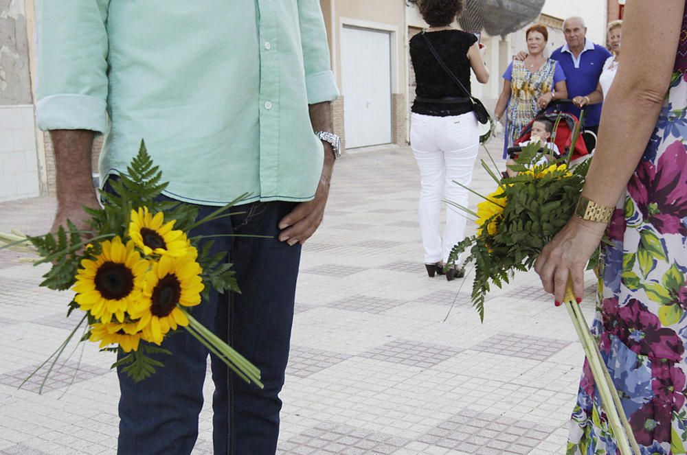
[[[327,31],[319,0],[298,0],[308,104],[334,101],[339,89],[331,71]]]

